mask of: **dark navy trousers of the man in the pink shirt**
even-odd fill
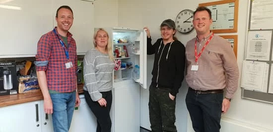
[[[186,105],[195,132],[219,132],[223,93],[198,94],[188,90]]]

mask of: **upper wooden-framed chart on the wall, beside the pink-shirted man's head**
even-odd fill
[[[213,33],[236,33],[238,22],[238,1],[220,0],[200,3],[211,11],[212,24],[210,30]]]

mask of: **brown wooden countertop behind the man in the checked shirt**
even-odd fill
[[[78,85],[78,92],[83,93],[83,84]],[[0,96],[0,107],[37,101],[44,99],[41,91],[18,93],[13,95]]]

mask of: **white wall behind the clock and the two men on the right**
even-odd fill
[[[151,30],[151,36],[154,42],[160,37],[159,25],[163,20],[168,18],[175,20],[176,15],[181,10],[195,10],[198,3],[211,1],[216,0],[96,0],[95,4],[98,3],[98,6],[95,5],[95,25],[96,27],[118,25],[138,29],[148,26]],[[238,32],[218,34],[238,35],[237,62],[240,73],[242,71],[246,46],[248,1],[250,0],[239,1]],[[195,31],[188,35],[177,33],[178,39],[183,44],[186,44],[195,36]],[[148,60],[152,60],[152,58],[153,56],[148,56]],[[150,67],[152,63],[151,61]],[[151,68],[148,70],[148,74],[151,73]],[[150,78],[151,76],[148,79]],[[240,82],[241,79],[239,79],[239,84]],[[145,93],[147,91],[148,90],[142,90],[142,92]],[[188,117],[185,105],[186,92],[187,85],[184,81],[177,97],[176,125],[178,132],[192,131],[191,124],[187,124]],[[241,94],[241,88],[239,87],[231,102],[231,108],[228,113],[222,115],[221,132],[273,132],[273,105],[242,99]],[[147,96],[147,94],[145,95]],[[141,101],[144,102],[145,100]],[[142,116],[147,117],[145,114],[147,114],[147,110]]]

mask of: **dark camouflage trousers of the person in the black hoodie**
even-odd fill
[[[177,132],[175,123],[175,104],[170,99],[170,88],[149,88],[149,117],[152,132]]]

